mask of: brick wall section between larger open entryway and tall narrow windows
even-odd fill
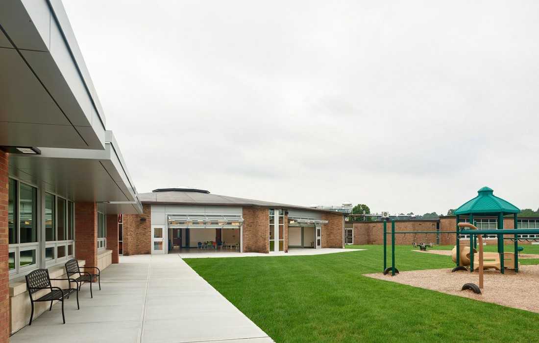
[[[243,208],[243,251],[244,253],[269,253],[269,209]],[[285,227],[285,239],[288,230]]]

